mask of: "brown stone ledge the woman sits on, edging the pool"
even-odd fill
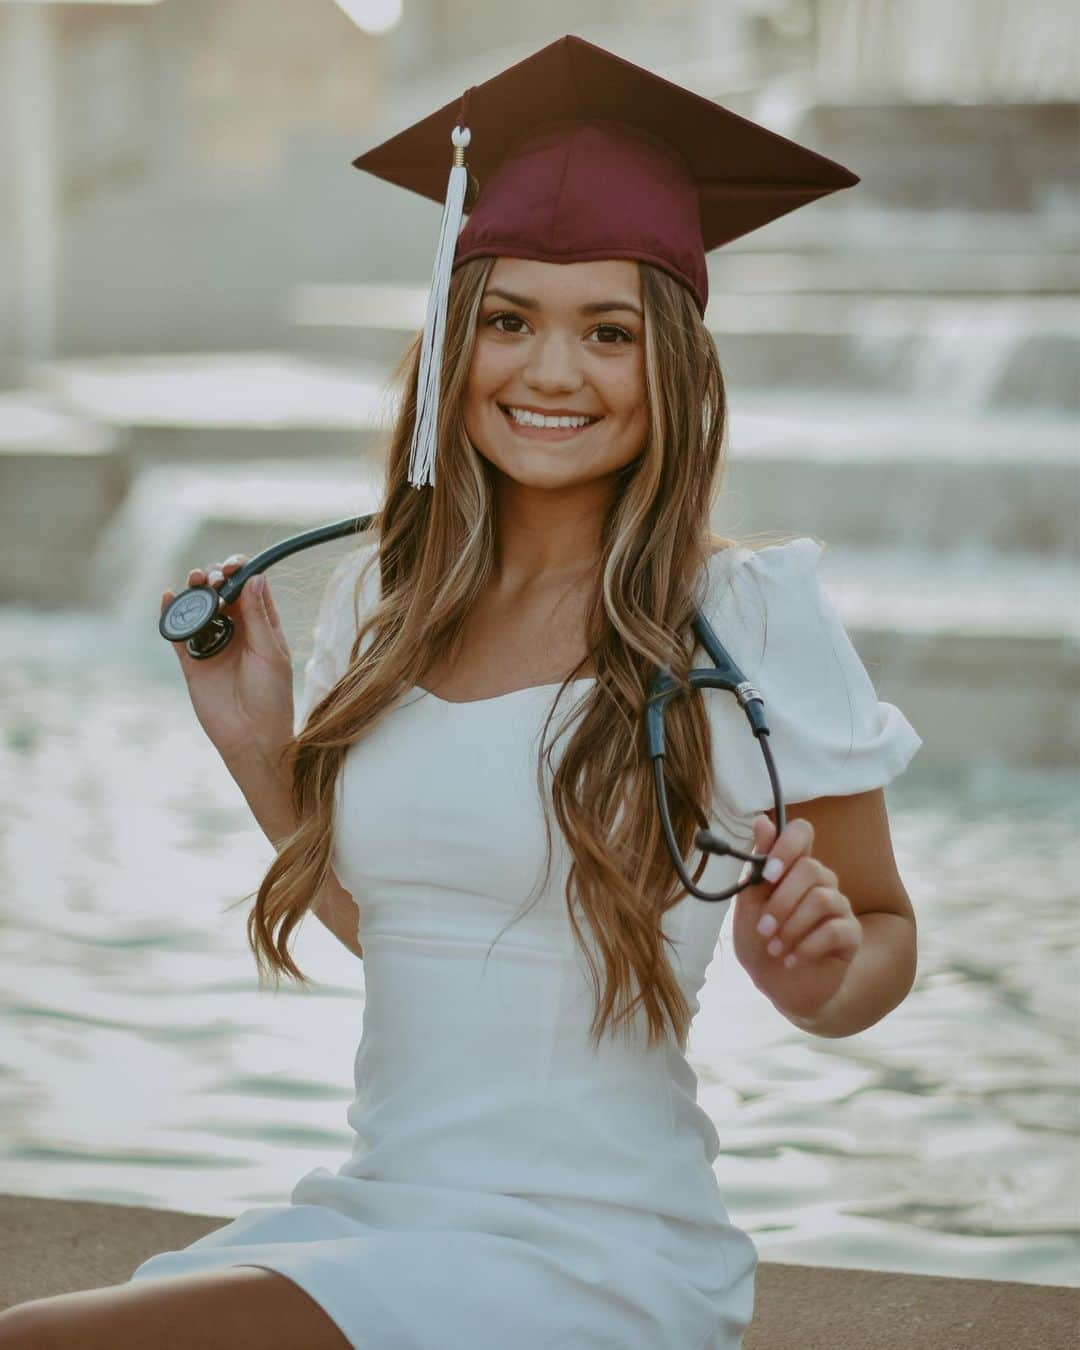
[[[228,1219],[0,1195],[0,1308],[123,1284]],[[1075,1350],[1080,1289],[880,1270],[757,1268],[744,1350]]]

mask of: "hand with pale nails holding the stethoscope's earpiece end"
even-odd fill
[[[813,845],[809,821],[788,821],[778,838],[770,817],[756,817],[753,849],[779,859],[783,872],[734,898],[736,956],[774,1006],[794,1018],[822,1011],[863,942],[863,926],[837,890],[836,872],[810,856]]]

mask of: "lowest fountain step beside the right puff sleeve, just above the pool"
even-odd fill
[[[1080,759],[1080,564],[829,547],[821,578],[926,764]]]

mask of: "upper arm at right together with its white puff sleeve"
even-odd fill
[[[717,564],[713,626],[764,701],[768,744],[788,817],[814,826],[814,856],[841,878],[852,903],[910,913],[896,871],[883,788],[922,738],[895,703],[879,699],[818,576],[809,537]],[[717,815],[752,834],[772,818],[772,783],[745,714],[711,693]]]

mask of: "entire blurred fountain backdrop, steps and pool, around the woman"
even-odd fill
[[[0,1189],[236,1212],[348,1148],[355,971],[251,1006],[215,907],[266,846],[159,595],[375,505],[440,212],[351,159],[567,32],[861,178],[709,259],[714,526],[828,541],[923,737],[890,790],[921,973],[822,1045],[725,964],[695,1027],[733,1216],[779,1260],[1075,1282],[1068,0],[0,0]],[[297,668],[347,547],[274,568]]]

